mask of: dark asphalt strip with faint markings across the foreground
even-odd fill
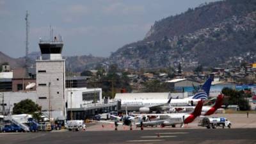
[[[2,133],[4,144],[84,143],[256,143],[256,129],[163,129],[146,131],[85,131]]]

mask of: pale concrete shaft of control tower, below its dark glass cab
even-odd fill
[[[51,110],[62,111],[65,115],[65,60],[36,60],[36,86],[38,104],[42,106],[42,110],[49,110],[51,95]]]

